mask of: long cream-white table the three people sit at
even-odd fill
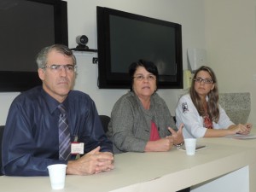
[[[230,138],[201,138],[199,143],[208,148],[187,156],[184,151],[173,148],[170,152],[117,154],[114,170],[92,176],[67,176],[67,192],[131,192],[131,191],[177,191],[199,183],[207,184],[215,178],[236,173],[249,177],[250,192],[256,191],[256,140]],[[240,173],[239,173],[240,174]],[[236,177],[236,174],[234,174]],[[227,186],[234,183],[224,183]],[[244,183],[246,184],[246,183]],[[225,186],[215,186],[216,190]],[[193,189],[194,190],[194,189]],[[47,192],[49,177],[0,177],[0,191]],[[195,189],[196,191],[196,189]],[[245,191],[243,191],[245,192]]]

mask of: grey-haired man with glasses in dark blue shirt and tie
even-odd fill
[[[46,47],[37,63],[42,86],[17,96],[9,109],[3,173],[44,176],[52,164],[67,164],[67,174],[76,175],[112,170],[112,143],[96,105],[87,94],[73,90],[77,66],[72,50],[61,44]]]

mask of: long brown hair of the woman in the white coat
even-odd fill
[[[212,68],[206,67],[206,66],[201,66],[200,68],[198,68],[195,71],[194,79],[196,78],[197,73],[199,73],[201,71],[205,71],[205,72],[209,73],[212,78],[212,84],[214,84],[214,88],[207,94],[207,96],[208,96],[207,108],[208,108],[208,115],[209,115],[210,119],[212,119],[212,121],[217,123],[218,119],[219,119],[217,79],[216,79],[214,72],[212,71]],[[201,116],[203,116],[203,115],[205,115],[205,111],[203,108],[203,102],[201,102],[200,97],[195,92],[195,80],[194,79],[192,80],[192,84],[191,84],[189,92],[190,92],[192,102],[195,105],[195,108],[197,109],[198,113]]]

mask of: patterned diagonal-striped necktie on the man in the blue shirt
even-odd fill
[[[60,104],[58,108],[61,111],[59,119],[59,160],[68,160],[71,152],[71,143],[67,113],[63,104]]]

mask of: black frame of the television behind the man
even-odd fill
[[[68,46],[67,2],[61,0],[26,1],[54,6],[55,44]],[[22,92],[40,84],[42,81],[38,77],[38,72],[0,71],[0,92]]]

